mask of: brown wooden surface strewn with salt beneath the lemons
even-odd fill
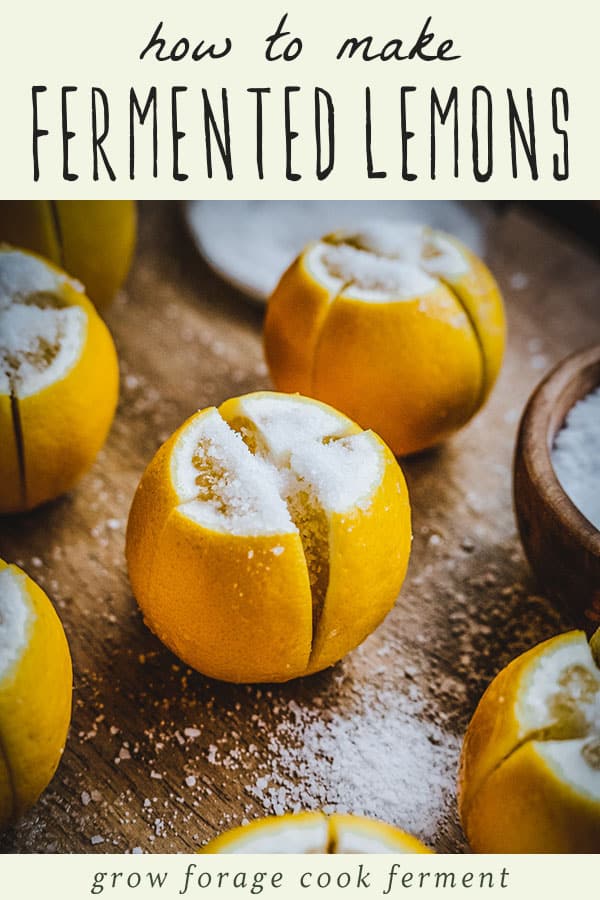
[[[176,204],[140,205],[135,263],[107,316],[122,381],[108,443],[69,496],[0,522],[0,555],[47,590],[75,667],[62,763],[0,850],[193,850],[244,819],[319,806],[466,849],[453,791],[469,717],[501,666],[569,625],[539,596],[516,534],[519,416],[551,366],[600,340],[589,247],[521,210],[488,237],[507,358],[477,419],[403,463],[414,543],[396,608],[325,673],[235,687],[187,670],[144,626],[124,529],[146,463],[185,417],[269,386],[261,312],[197,258]]]

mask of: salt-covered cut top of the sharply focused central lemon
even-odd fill
[[[349,419],[301,397],[264,393],[194,418],[176,442],[182,511],[239,535],[302,531],[302,510],[368,508],[384,470],[382,445]]]

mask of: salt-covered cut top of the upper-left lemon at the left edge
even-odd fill
[[[83,350],[83,309],[61,303],[70,282],[36,257],[0,252],[0,394],[25,399],[64,378]]]

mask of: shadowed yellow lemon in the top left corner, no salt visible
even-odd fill
[[[0,201],[0,242],[34,250],[70,272],[98,307],[125,280],[135,232],[132,200]]]

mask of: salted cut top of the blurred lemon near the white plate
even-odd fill
[[[331,293],[372,303],[412,300],[469,269],[445,235],[389,222],[325,238],[309,250],[306,264]]]

